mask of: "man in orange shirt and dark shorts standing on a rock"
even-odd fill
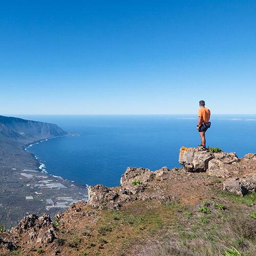
[[[198,145],[199,148],[202,148],[203,150],[206,149],[205,144],[205,132],[210,127],[210,111],[205,108],[205,102],[204,100],[199,101],[200,109],[198,111],[198,125],[197,130],[199,132],[199,135],[201,137],[201,144]]]

